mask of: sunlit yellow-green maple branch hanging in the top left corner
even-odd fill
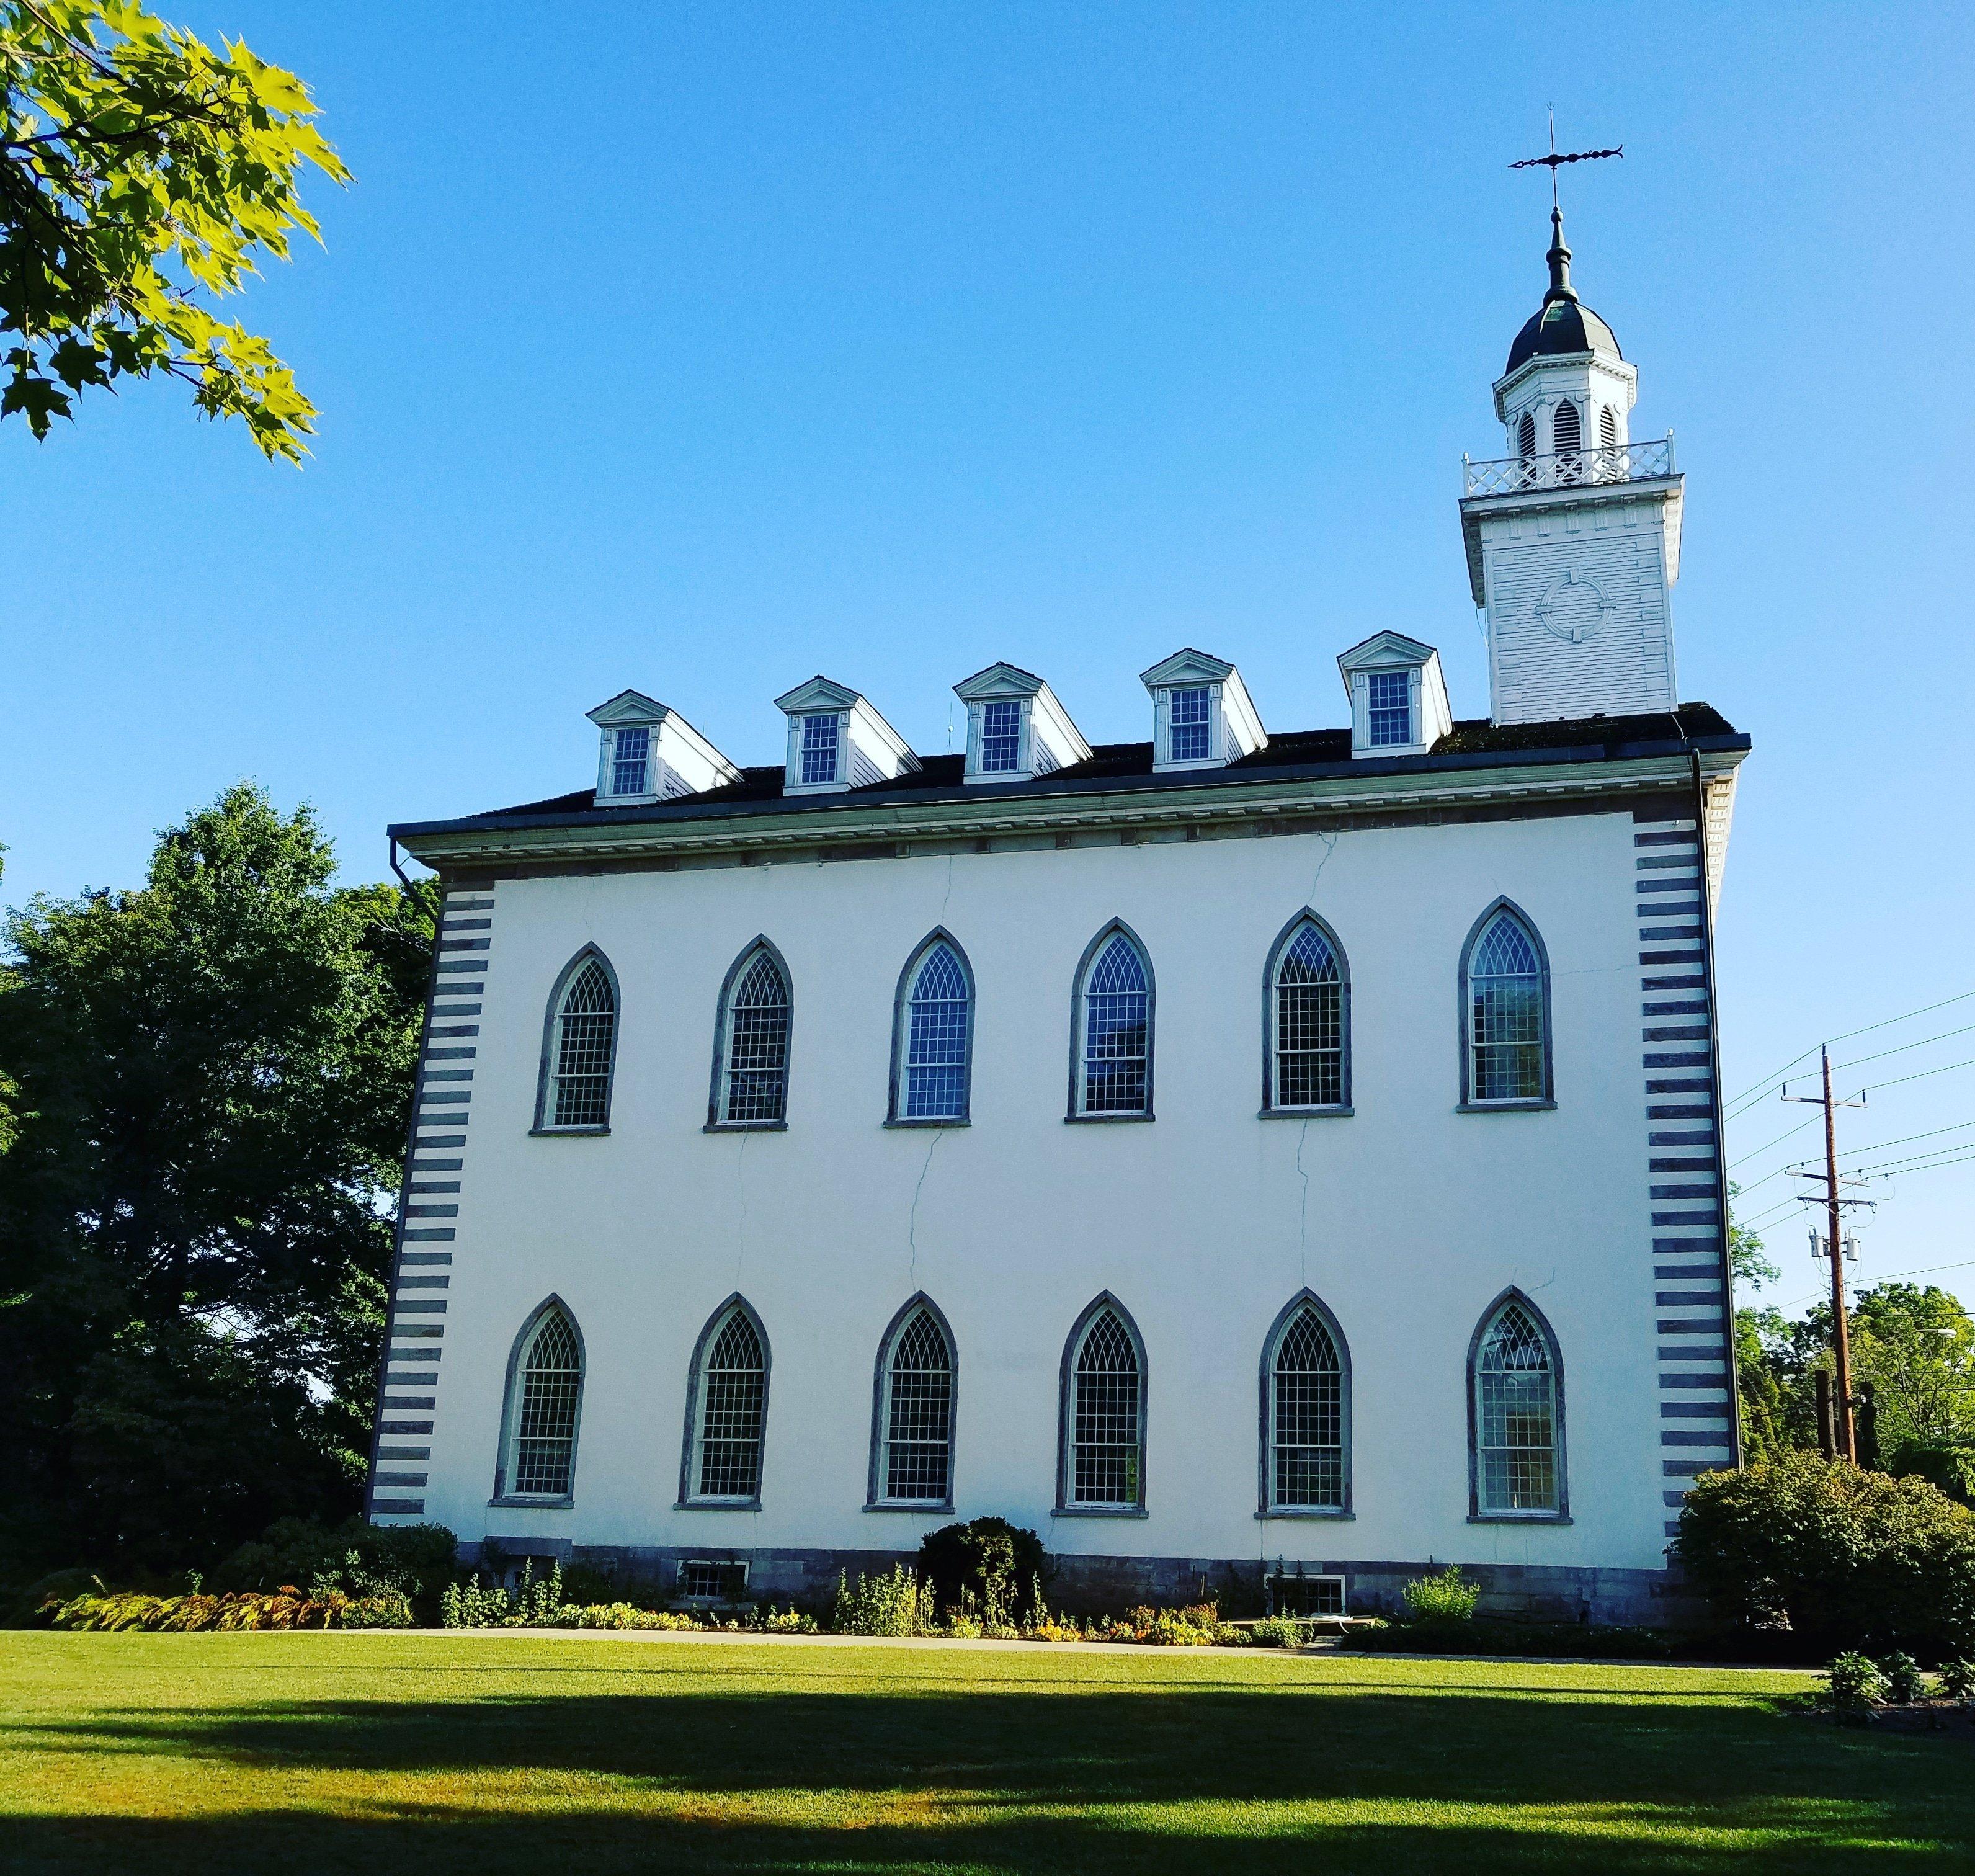
[[[0,0],[0,419],[45,436],[85,389],[164,375],[300,460],[314,405],[207,302],[318,233],[304,166],[348,182],[308,87],[132,0]]]

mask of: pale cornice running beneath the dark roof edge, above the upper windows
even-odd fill
[[[654,861],[709,853],[774,853],[901,839],[968,839],[1011,833],[1072,833],[1132,827],[1205,827],[1284,816],[1363,814],[1623,798],[1679,786],[1695,750],[1704,774],[1728,774],[1748,754],[1748,737],[1604,748],[1517,750],[1513,756],[1414,756],[1392,762],[1309,764],[1302,774],[1094,790],[991,796],[980,788],[936,800],[818,796],[800,812],[745,814],[733,804],[620,814],[519,814],[468,821],[415,821],[391,833],[429,867],[545,865],[567,861]]]

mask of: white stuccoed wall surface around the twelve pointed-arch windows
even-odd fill
[[[956,1517],[1057,1552],[1661,1568],[1633,883],[1623,812],[504,879],[425,1517],[910,1548],[948,1517],[863,1501],[875,1345],[924,1290],[958,1341]],[[1456,1112],[1456,964],[1497,895],[1548,946],[1554,1112]],[[1305,904],[1349,954],[1357,1112],[1258,1120],[1262,966]],[[1114,916],[1157,976],[1157,1120],[1066,1126],[1070,979]],[[974,1124],[887,1132],[897,977],[934,924],[978,981]],[[788,1132],[709,1135],[715,997],[762,932],[794,976]],[[612,1132],[529,1137],[545,997],[587,942],[624,995]],[[1256,1519],[1260,1347],[1305,1282],[1351,1345],[1353,1521]],[[1467,1523],[1465,1353],[1509,1284],[1562,1343],[1570,1524]],[[689,1353],[735,1290],[772,1345],[762,1509],[677,1511]],[[1063,1343],[1102,1290],[1146,1341],[1149,1515],[1053,1519]],[[589,1359],[575,1507],[490,1509],[506,1363],[551,1291]]]

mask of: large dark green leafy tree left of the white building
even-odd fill
[[[16,1554],[184,1564],[356,1503],[433,902],[332,871],[306,808],[233,788],[138,891],[8,922]]]

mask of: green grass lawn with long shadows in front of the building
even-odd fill
[[[0,1635],[0,1870],[1975,1868],[1975,1746],[1807,1675]]]

